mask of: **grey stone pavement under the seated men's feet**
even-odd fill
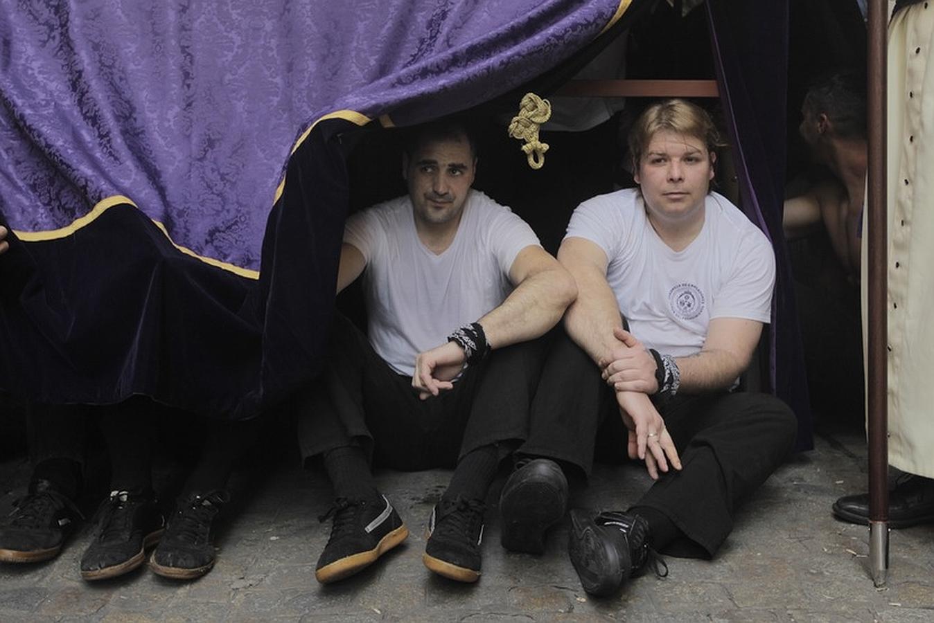
[[[361,575],[319,586],[315,561],[330,525],[317,516],[330,503],[328,486],[320,473],[280,458],[254,461],[237,475],[243,502],[222,522],[218,564],[204,578],[176,583],[144,568],[86,584],[78,576],[91,538],[85,526],[56,561],[0,566],[0,621],[934,620],[934,525],[892,533],[888,586],[873,588],[867,529],[829,513],[837,496],[866,487],[862,436],[825,434],[816,447],[793,457],[743,506],[715,561],[670,558],[667,578],[640,577],[612,599],[592,599],[580,587],[565,553],[567,525],[552,534],[544,556],[511,554],[499,545],[495,512],[475,586],[429,573],[423,531],[449,478],[444,470],[379,473],[411,536]],[[0,512],[27,476],[23,458],[0,461]],[[647,481],[635,465],[602,465],[573,502],[626,506]],[[502,478],[490,499],[501,486]]]

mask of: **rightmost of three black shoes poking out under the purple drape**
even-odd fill
[[[149,569],[177,580],[191,580],[210,571],[216,558],[211,524],[229,500],[227,491],[192,492],[179,499],[159,546],[152,552]]]

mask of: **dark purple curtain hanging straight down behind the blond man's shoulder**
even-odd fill
[[[785,186],[787,0],[707,0],[720,99],[736,150],[741,207],[769,236],[776,284],[769,373],[776,395],[798,415],[798,450],[814,447],[811,408],[782,212]]]

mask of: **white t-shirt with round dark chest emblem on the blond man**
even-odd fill
[[[658,237],[637,188],[581,203],[568,224],[571,237],[606,253],[606,279],[630,331],[659,353],[697,353],[712,318],[771,320],[771,243],[715,192],[707,195],[701,233],[682,251]]]

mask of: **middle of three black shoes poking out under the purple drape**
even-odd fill
[[[81,577],[104,580],[133,571],[145,560],[165,526],[151,493],[110,491],[101,505],[98,530],[81,557]]]

